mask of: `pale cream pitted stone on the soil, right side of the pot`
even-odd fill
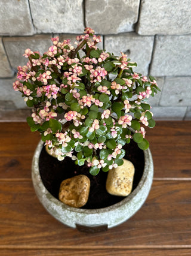
[[[134,177],[134,165],[123,159],[124,164],[109,170],[106,180],[106,190],[109,194],[126,197],[131,193]]]

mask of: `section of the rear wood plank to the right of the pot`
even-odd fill
[[[147,129],[154,177],[191,177],[191,122],[156,122]]]

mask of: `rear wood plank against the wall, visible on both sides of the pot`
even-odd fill
[[[191,177],[191,122],[157,122],[147,129],[155,165],[155,177]],[[38,132],[26,123],[0,123],[0,179],[30,178],[30,166]]]

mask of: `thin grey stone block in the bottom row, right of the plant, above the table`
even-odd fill
[[[153,119],[182,121],[186,113],[186,107],[153,107]]]

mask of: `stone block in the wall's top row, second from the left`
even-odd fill
[[[39,33],[81,33],[84,31],[83,1],[30,0],[34,26]]]

